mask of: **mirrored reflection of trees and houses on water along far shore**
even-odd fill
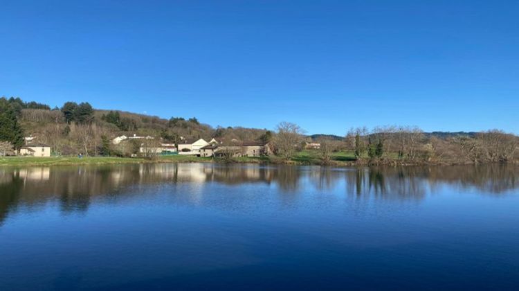
[[[0,168],[0,224],[19,207],[58,202],[64,213],[95,197],[139,195],[153,184],[266,184],[281,194],[338,191],[355,199],[422,200],[441,187],[502,195],[518,188],[518,166],[327,168],[218,164]],[[342,189],[342,190],[341,190]]]

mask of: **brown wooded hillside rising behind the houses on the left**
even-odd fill
[[[172,117],[169,120],[158,116],[93,109],[89,103],[67,102],[61,108],[20,98],[1,98],[3,115],[17,120],[21,132],[17,136],[4,134],[15,148],[23,145],[23,136],[33,136],[39,143],[51,145],[53,152],[61,155],[105,155],[103,143],[120,135],[154,136],[167,142],[185,139],[210,139],[223,137],[242,141],[254,141],[264,137],[268,130],[245,127],[212,127],[197,118]],[[8,127],[13,127],[9,125]],[[1,139],[1,136],[0,136]]]

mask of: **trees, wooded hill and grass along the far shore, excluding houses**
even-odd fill
[[[346,127],[346,126],[345,126]],[[114,145],[116,136],[153,136],[154,141],[178,143],[185,139],[265,141],[271,155],[228,157],[226,162],[271,164],[484,164],[519,161],[519,137],[489,130],[484,132],[423,132],[418,127],[384,126],[368,130],[352,128],[345,136],[304,135],[293,123],[275,130],[245,127],[212,127],[197,118],[169,120],[116,110],[94,109],[89,103],[67,102],[62,107],[0,98],[0,155],[12,154],[24,145],[24,136],[51,147],[51,158],[5,157],[0,165],[112,164],[149,161],[222,161],[193,156],[143,156],[141,141]],[[147,141],[151,142],[151,141]],[[83,158],[78,158],[82,154]]]

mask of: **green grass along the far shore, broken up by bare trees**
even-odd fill
[[[67,165],[105,165],[137,163],[193,163],[210,162],[212,158],[188,155],[161,156],[155,159],[121,157],[0,157],[0,166],[67,166]],[[355,161],[353,152],[334,152],[331,157],[334,164],[346,164]],[[286,164],[280,157],[238,157],[237,163]],[[319,152],[304,150],[297,152],[289,164],[321,164]]]

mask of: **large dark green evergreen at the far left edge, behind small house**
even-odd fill
[[[24,133],[18,124],[15,109],[6,98],[0,98],[0,141],[8,141],[16,150],[24,145]]]

